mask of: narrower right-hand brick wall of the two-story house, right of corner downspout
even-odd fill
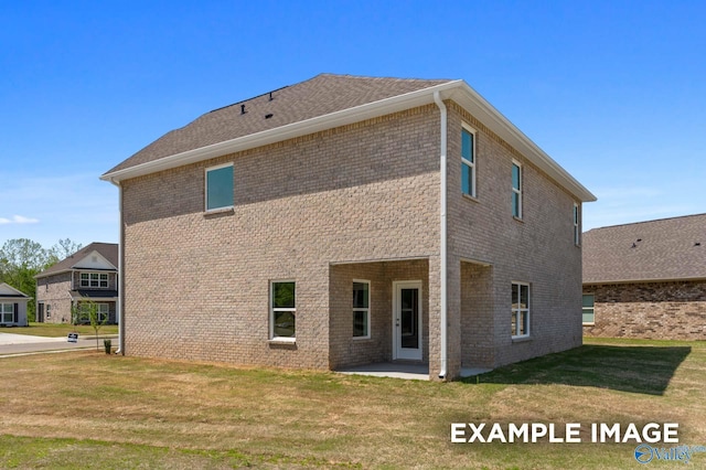
[[[460,191],[461,122],[477,131],[475,199]],[[500,366],[580,345],[581,249],[573,225],[580,202],[456,104],[448,129],[449,266],[462,265],[461,281],[449,287],[449,321],[462,331],[451,348],[466,366]],[[523,169],[521,221],[511,213],[513,159]],[[527,340],[511,338],[513,281],[531,285]]]

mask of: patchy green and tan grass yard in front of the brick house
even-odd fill
[[[0,468],[640,467],[635,444],[451,444],[451,423],[678,423],[681,444],[706,445],[705,342],[587,343],[448,384],[94,351],[0,359]]]

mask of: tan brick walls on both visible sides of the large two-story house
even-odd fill
[[[574,199],[447,106],[448,377],[579,345]],[[462,121],[478,131],[473,200],[460,192]],[[513,159],[524,170],[522,221],[511,215]],[[204,214],[204,171],[223,163],[234,165],[235,209]],[[389,357],[392,281],[418,278],[436,377],[438,191],[435,105],[125,181],[126,353],[317,368]],[[409,258],[421,261],[393,261]],[[296,344],[268,341],[269,282],[282,279],[297,282]],[[372,281],[371,340],[351,338],[352,279]],[[532,285],[532,335],[515,342],[512,281]]]

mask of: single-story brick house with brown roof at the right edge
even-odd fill
[[[585,233],[584,334],[706,340],[706,214]]]

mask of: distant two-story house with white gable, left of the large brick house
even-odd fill
[[[89,300],[96,303],[100,320],[117,323],[117,244],[92,243],[34,278],[36,321],[72,323],[75,307]]]

